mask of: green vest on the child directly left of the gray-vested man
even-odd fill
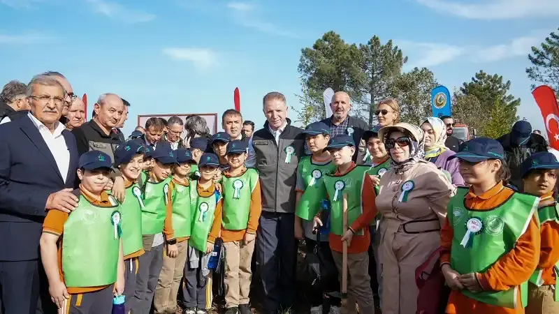
[[[240,177],[223,177],[223,220],[225,230],[247,229],[252,191],[258,183],[258,172],[248,168]]]

